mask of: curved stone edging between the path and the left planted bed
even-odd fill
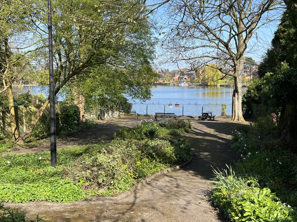
[[[151,180],[153,180],[157,176],[168,173],[168,172],[171,172],[171,171],[174,171],[174,170],[178,170],[181,167],[184,167],[184,166],[188,165],[189,163],[191,163],[192,160],[193,160],[193,155],[186,163],[183,163],[181,165],[177,165],[177,166],[174,166],[174,167],[170,167],[170,168],[161,170],[161,171],[155,173],[154,175],[152,175],[152,176],[150,176],[148,178],[144,178],[142,182],[136,184],[134,187],[132,187],[128,191],[126,191],[124,193],[121,193],[116,197],[90,197],[90,198],[88,198],[88,200],[103,200],[103,199],[121,200],[121,199],[127,197],[128,195],[132,194],[136,190],[138,190],[140,187],[143,187],[145,184],[147,184],[148,182],[150,182]]]

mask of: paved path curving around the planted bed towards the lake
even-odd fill
[[[141,119],[140,119],[141,120]],[[121,200],[102,200],[58,204],[30,202],[6,204],[25,210],[29,219],[38,214],[49,221],[140,221],[140,222],[198,222],[223,221],[207,201],[212,178],[212,167],[222,168],[236,156],[227,149],[227,142],[237,123],[224,120],[191,120],[194,130],[183,136],[192,143],[192,163],[161,175]],[[134,126],[137,120],[108,120],[99,123],[91,131],[81,134],[85,143],[98,138],[112,139],[118,126]],[[108,133],[105,133],[108,132]],[[67,138],[67,144],[80,144],[78,138]],[[59,147],[59,146],[58,146]],[[38,151],[38,150],[37,150]]]

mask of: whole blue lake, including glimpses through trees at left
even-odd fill
[[[242,88],[242,92],[246,88]],[[23,91],[28,91],[25,86]],[[48,95],[48,87],[30,86],[32,94]],[[129,99],[134,103],[132,110],[139,114],[174,112],[176,115],[200,115],[202,111],[212,111],[221,115],[221,104],[227,104],[227,115],[231,115],[233,88],[217,86],[156,86],[151,88],[151,99],[146,102]],[[58,95],[59,101],[63,96]]]

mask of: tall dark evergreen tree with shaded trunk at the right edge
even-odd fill
[[[277,136],[291,142],[297,138],[297,4],[296,1],[286,4],[271,49],[259,65],[260,80],[250,91],[258,104],[281,111]]]

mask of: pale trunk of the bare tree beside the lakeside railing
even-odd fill
[[[242,65],[238,65],[234,70],[234,88],[233,88],[233,95],[232,95],[232,121],[235,122],[245,122],[242,116],[242,107],[241,107],[241,87],[242,87],[242,74],[241,68]]]

